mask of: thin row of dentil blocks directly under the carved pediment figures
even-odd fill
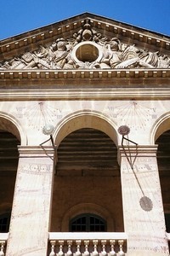
[[[65,69],[65,70],[2,70],[3,79],[129,79],[129,78],[170,78],[170,68],[140,69]]]

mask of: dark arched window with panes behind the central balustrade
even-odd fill
[[[98,215],[86,213],[71,219],[71,232],[105,232],[105,219]]]

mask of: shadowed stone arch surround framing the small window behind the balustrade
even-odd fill
[[[69,223],[72,218],[89,212],[99,215],[99,217],[105,219],[107,222],[107,232],[113,232],[115,230],[114,220],[107,209],[94,203],[80,203],[65,212],[61,223],[61,232],[69,231]]]

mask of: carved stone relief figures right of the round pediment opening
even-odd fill
[[[101,68],[126,67],[169,67],[170,59],[160,57],[158,52],[149,52],[134,45],[125,45],[118,38],[112,38],[105,45]]]

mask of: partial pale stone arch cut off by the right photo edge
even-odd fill
[[[161,115],[161,117],[157,119],[155,124],[152,126],[150,132],[150,143],[155,144],[156,139],[167,130],[170,130],[170,112]]]

